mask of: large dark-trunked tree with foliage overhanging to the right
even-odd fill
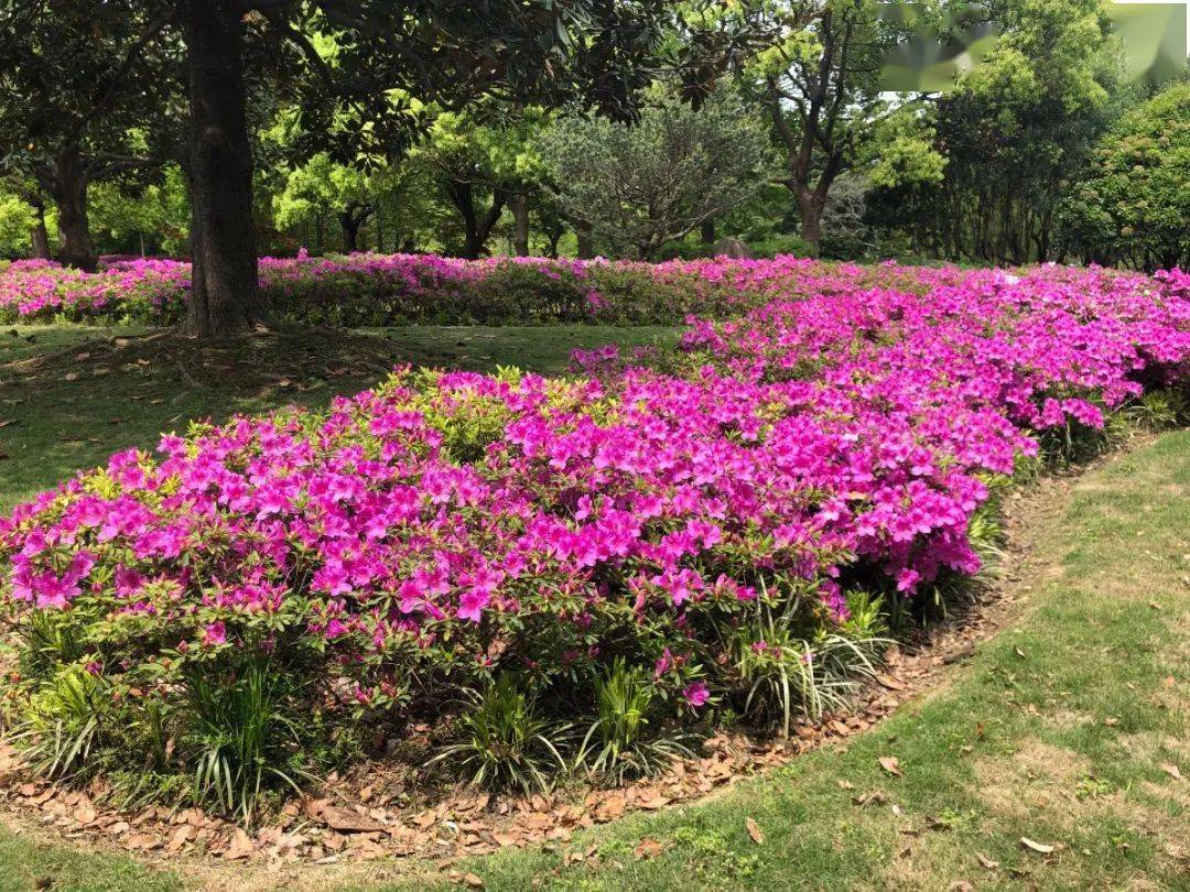
[[[631,113],[672,18],[660,0],[187,0],[176,11],[190,98],[194,285],[187,328],[202,335],[267,315],[256,246],[245,237],[252,224],[245,40],[300,48],[308,75],[302,127],[325,134],[332,157],[344,162],[358,153],[361,138],[401,151],[425,130],[420,109],[428,103],[458,108],[496,95],[552,105],[581,96],[603,111]],[[314,36],[333,50],[320,52]]]

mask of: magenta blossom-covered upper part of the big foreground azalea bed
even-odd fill
[[[789,284],[750,269],[765,296]],[[762,583],[839,617],[857,580],[912,596],[975,572],[972,514],[1032,432],[1100,427],[1188,379],[1180,272],[797,275],[807,296],[694,321],[682,375],[405,370],[325,415],[118,453],[0,522],[0,593],[151,617],[170,652],[294,616],[344,672],[372,672],[363,699],[411,653],[560,665],[625,622],[707,653],[700,617]]]

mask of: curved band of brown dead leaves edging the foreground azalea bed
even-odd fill
[[[847,737],[945,683],[954,664],[1020,616],[1032,588],[1021,580],[1035,572],[1029,567],[1031,542],[1063,510],[1069,489],[1069,476],[1053,476],[1016,491],[1008,508],[1008,553],[1000,579],[916,640],[889,648],[883,671],[857,698],[853,711],[801,722],[788,741],[720,733],[706,741],[697,758],[675,762],[660,778],[614,790],[572,787],[527,798],[458,787],[438,802],[419,802],[409,794],[407,769],[377,761],[347,778],[332,774],[320,797],[288,803],[252,835],[193,808],[114,810],[101,780],[70,790],[29,779],[12,748],[0,745],[0,821],[43,837],[124,849],[150,862],[168,860],[174,869],[209,872],[220,863],[252,862],[271,874],[286,871],[289,880],[302,865],[416,856],[451,869],[458,858],[509,846],[564,844],[580,829],[632,811],[691,803],[801,753],[845,746]],[[237,877],[243,878],[239,869]]]

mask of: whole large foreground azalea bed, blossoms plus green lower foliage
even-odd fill
[[[841,704],[887,620],[979,572],[1023,464],[1190,379],[1177,271],[745,278],[744,309],[693,321],[679,358],[401,369],[325,412],[117,453],[17,508],[10,721],[42,745],[73,722],[55,771],[136,752],[193,773],[202,716],[234,712],[200,716],[195,692],[267,666],[286,684],[259,692],[252,752],[277,759],[430,727],[476,765],[515,750],[518,784],[566,761],[647,771],[713,716],[788,729]],[[82,720],[63,686],[84,689]]]

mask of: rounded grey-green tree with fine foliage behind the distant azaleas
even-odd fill
[[[769,174],[768,143],[765,126],[721,87],[697,111],[654,93],[633,125],[563,118],[543,153],[562,208],[647,259],[754,193]]]

